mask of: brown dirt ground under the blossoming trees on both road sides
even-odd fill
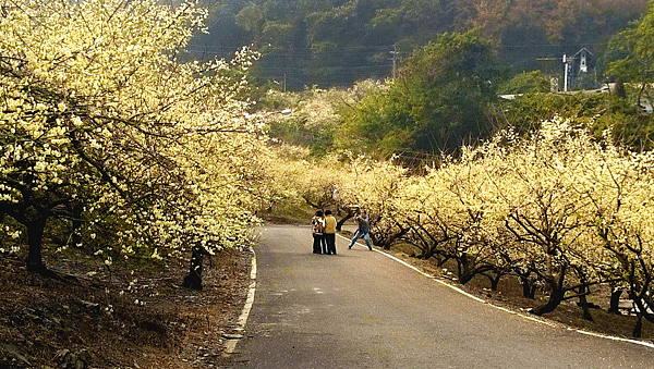
[[[443,267],[391,253],[457,285]],[[96,267],[89,259],[60,260],[50,266],[65,276],[58,280],[27,273],[22,259],[0,255],[0,368],[225,368],[226,340],[239,333],[234,329],[251,260],[250,251],[239,250],[205,259],[204,290],[195,292],[180,285],[187,270],[183,263],[165,273],[114,270],[100,279],[87,276]],[[496,292],[484,278],[457,286],[525,315],[541,298],[523,298],[510,278]],[[583,319],[574,300],[543,318],[564,328],[631,337],[635,317],[608,313],[606,291],[589,300],[598,306],[593,321]],[[643,337],[654,337],[647,322]]]

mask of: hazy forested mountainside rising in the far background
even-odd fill
[[[196,58],[253,45],[256,72],[288,89],[349,86],[387,77],[444,32],[480,28],[513,73],[562,70],[564,54],[600,56],[608,37],[645,12],[647,0],[205,0],[208,34]]]

